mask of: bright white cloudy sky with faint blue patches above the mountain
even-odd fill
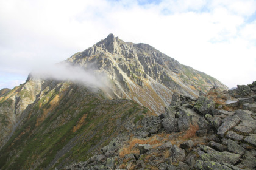
[[[0,89],[113,33],[229,88],[256,81],[256,0],[0,0]]]

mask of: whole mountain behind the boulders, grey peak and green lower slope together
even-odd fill
[[[174,92],[197,97],[212,86],[227,89],[148,44],[112,34],[63,63],[107,81],[91,87],[29,75],[26,83],[0,90],[0,169],[54,169],[85,161],[145,114],[164,112]]]

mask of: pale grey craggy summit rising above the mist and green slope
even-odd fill
[[[104,72],[112,84],[112,98],[129,98],[160,114],[173,92],[197,97],[221,82],[205,73],[184,66],[148,44],[124,42],[113,34],[84,52],[71,56],[68,63]]]

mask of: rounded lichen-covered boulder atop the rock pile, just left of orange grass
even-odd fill
[[[202,115],[212,114],[215,102],[207,97],[199,97],[194,106]]]

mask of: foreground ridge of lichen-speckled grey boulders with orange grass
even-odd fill
[[[130,124],[130,132],[65,169],[256,169],[256,81],[200,94],[174,93],[164,114]]]

